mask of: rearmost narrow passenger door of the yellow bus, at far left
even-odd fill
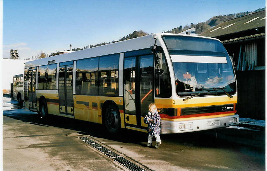
[[[36,68],[29,70],[28,75],[28,94],[29,94],[29,108],[30,110],[37,111],[36,102]]]

